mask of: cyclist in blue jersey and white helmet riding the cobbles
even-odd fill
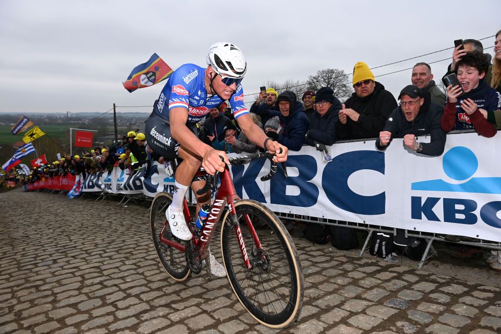
[[[276,152],[275,162],[287,160],[287,148],[269,139],[245,108],[240,82],[247,64],[240,49],[227,42],[215,43],[209,48],[207,65],[202,68],[184,64],[174,71],[146,121],[146,139],[153,151],[165,160],[182,159],[175,173],[172,203],[166,212],[172,234],[181,240],[192,237],[184,221],[182,203],[196,171],[201,165],[209,174],[223,172],[225,163],[229,163],[223,151],[197,137],[196,124],[212,108],[229,100],[233,116],[247,138],[271,153]],[[203,182],[193,182],[192,189],[201,188]],[[202,204],[210,202],[210,194],[195,196],[198,212]],[[212,256],[210,262],[213,263]]]

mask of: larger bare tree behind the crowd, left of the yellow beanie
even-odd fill
[[[314,76],[309,76],[307,80],[308,89],[318,91],[322,87],[330,87],[334,91],[334,95],[343,101],[346,101],[353,89],[351,82],[343,70],[325,69],[317,71]]]

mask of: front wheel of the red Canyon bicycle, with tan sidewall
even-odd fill
[[[261,260],[263,253],[258,254],[244,214],[248,214],[251,221],[265,223],[265,228],[256,228],[256,233],[270,266],[266,268],[264,263],[247,269],[243,265],[239,241],[226,212],[221,226],[221,253],[231,288],[256,320],[271,328],[286,328],[297,319],[303,304],[303,271],[296,246],[280,219],[263,204],[245,199],[236,201],[234,206],[247,256],[254,263],[266,261]]]

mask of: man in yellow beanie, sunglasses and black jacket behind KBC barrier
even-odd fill
[[[355,64],[353,70],[355,93],[346,100],[336,123],[338,139],[376,138],[384,128],[391,112],[397,107],[393,95],[374,80],[364,62]]]

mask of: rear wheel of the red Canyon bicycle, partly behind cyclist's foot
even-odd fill
[[[166,221],[165,211],[169,207],[170,203],[172,203],[172,196],[164,192],[157,194],[153,199],[153,202],[151,202],[151,238],[153,239],[158,259],[160,260],[160,263],[165,271],[167,271],[170,277],[174,280],[182,282],[191,274],[191,270],[186,264],[184,253],[174,247],[161,243],[159,238],[160,232],[162,231],[163,225]],[[167,224],[163,236],[169,240],[174,239],[177,242],[182,242],[182,240],[179,240],[172,235],[169,224]]]

